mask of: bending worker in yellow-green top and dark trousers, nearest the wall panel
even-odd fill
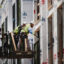
[[[33,28],[34,24],[30,23],[30,24],[26,24],[23,29],[21,30],[21,37],[20,37],[20,40],[19,40],[19,43],[18,43],[18,48],[20,49],[20,46],[22,44],[24,44],[23,48],[25,48],[25,38],[27,40],[27,47],[28,47],[28,38],[27,38],[27,35],[29,33],[29,28],[32,27]],[[24,40],[24,41],[23,41]],[[29,49],[29,48],[28,48]]]

